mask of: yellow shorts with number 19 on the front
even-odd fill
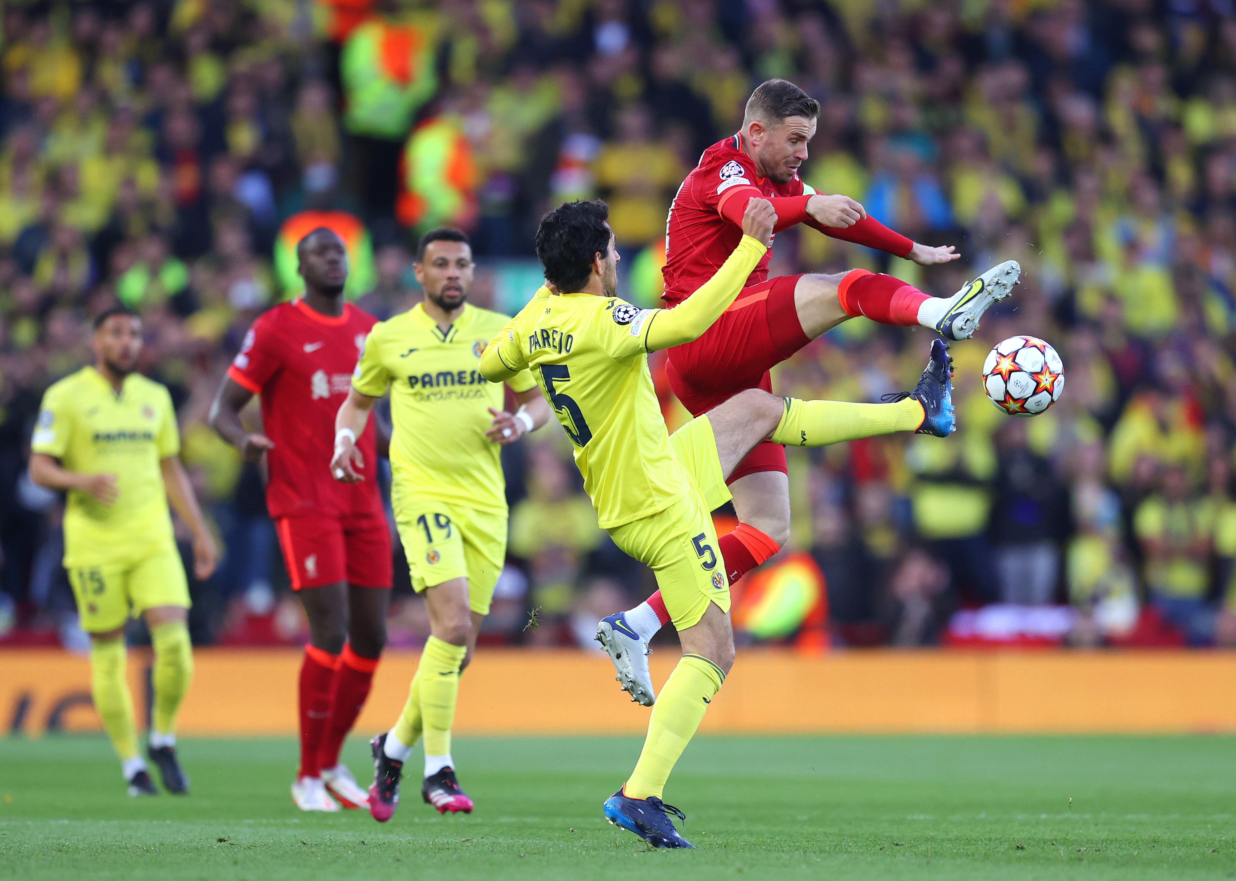
[[[394,522],[418,594],[466,578],[468,605],[489,614],[493,588],[507,562],[507,515],[433,499],[394,500]]]

